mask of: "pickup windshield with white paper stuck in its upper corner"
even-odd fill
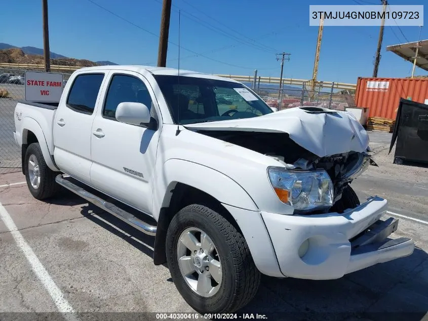
[[[154,75],[175,124],[191,124],[273,113],[245,86],[223,80]]]

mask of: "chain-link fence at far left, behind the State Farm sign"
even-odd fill
[[[16,103],[25,99],[25,71],[0,68],[0,174],[21,170],[21,150],[13,132]],[[64,80],[70,77],[63,75]]]

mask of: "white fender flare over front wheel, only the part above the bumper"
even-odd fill
[[[153,191],[153,217],[159,218],[162,207],[168,207],[172,190],[177,183],[197,188],[219,202],[257,211],[257,205],[251,196],[225,174],[183,159],[169,159],[162,167],[161,174],[155,176]]]

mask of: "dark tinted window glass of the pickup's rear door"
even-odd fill
[[[104,74],[77,76],[68,94],[67,107],[79,113],[92,115],[103,79]]]

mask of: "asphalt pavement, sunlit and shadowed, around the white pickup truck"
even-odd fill
[[[388,137],[371,134],[372,144],[385,145]],[[392,164],[385,146],[377,151],[379,167],[370,166],[352,186],[362,201],[375,194],[388,199],[392,215],[401,216],[395,237],[412,237],[413,255],[337,280],[264,276],[238,318],[428,319],[426,168]],[[153,265],[153,237],[67,191],[37,201],[24,181],[19,172],[0,175],[0,320],[161,319],[156,312],[194,312],[168,268]],[[173,319],[188,318],[195,317]]]

